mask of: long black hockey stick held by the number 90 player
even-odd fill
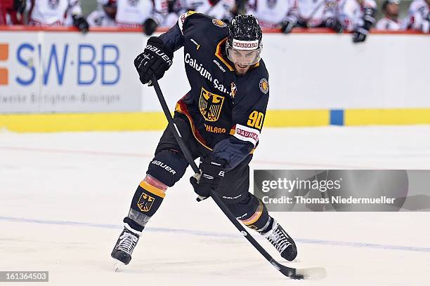
[[[193,171],[196,174],[200,175],[200,170],[195,164],[193,157],[190,154],[190,151],[185,146],[185,142],[183,142],[181,133],[179,132],[178,128],[176,127],[176,124],[174,123],[173,117],[171,116],[169,111],[169,107],[167,107],[166,100],[164,100],[163,93],[159,88],[159,84],[155,76],[152,79],[152,84],[154,85],[155,93],[157,93],[157,97],[164,111],[164,115],[166,116],[167,121],[169,121],[169,128],[171,129],[171,132],[174,133],[176,141],[178,142],[179,147],[181,147],[181,151],[183,155],[187,159],[191,168],[193,168]],[[214,191],[211,191],[211,198],[214,199],[216,205],[218,205],[218,207],[223,211],[223,213],[226,214],[226,217],[230,219],[230,222],[232,222],[236,226],[236,229],[239,230],[240,233],[242,233],[242,236],[245,236],[245,238],[247,238],[249,243],[251,243],[256,248],[256,250],[258,250],[261,253],[261,255],[263,255],[263,257],[266,258],[282,274],[292,279],[320,279],[325,277],[325,268],[296,269],[296,268],[283,266],[282,264],[280,264],[278,261],[273,259],[273,257],[271,257],[271,254],[268,254],[268,252],[266,252],[266,250],[264,250],[264,248],[261,247],[261,245],[259,245],[259,243],[257,243],[256,240],[248,233],[248,231],[242,226],[242,224],[240,224],[240,222],[237,221],[235,216],[230,212],[230,210],[228,210],[226,205],[224,205],[224,203],[221,201],[219,196],[217,196]]]

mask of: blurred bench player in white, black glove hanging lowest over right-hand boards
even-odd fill
[[[370,28],[374,25],[377,4],[374,0],[341,0],[339,19],[344,29],[353,32],[353,42],[362,43],[366,40]]]

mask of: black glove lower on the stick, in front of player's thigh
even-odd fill
[[[194,175],[190,177],[190,183],[193,185],[195,193],[199,196],[197,201],[204,200],[211,195],[211,191],[218,188],[221,179],[224,177],[223,160],[205,156],[200,158],[200,177]]]

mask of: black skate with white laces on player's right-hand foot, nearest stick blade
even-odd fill
[[[273,219],[273,218],[272,218]],[[294,240],[282,229],[282,226],[273,219],[272,227],[266,233],[261,233],[279,251],[281,257],[293,261],[297,257],[297,247]]]

